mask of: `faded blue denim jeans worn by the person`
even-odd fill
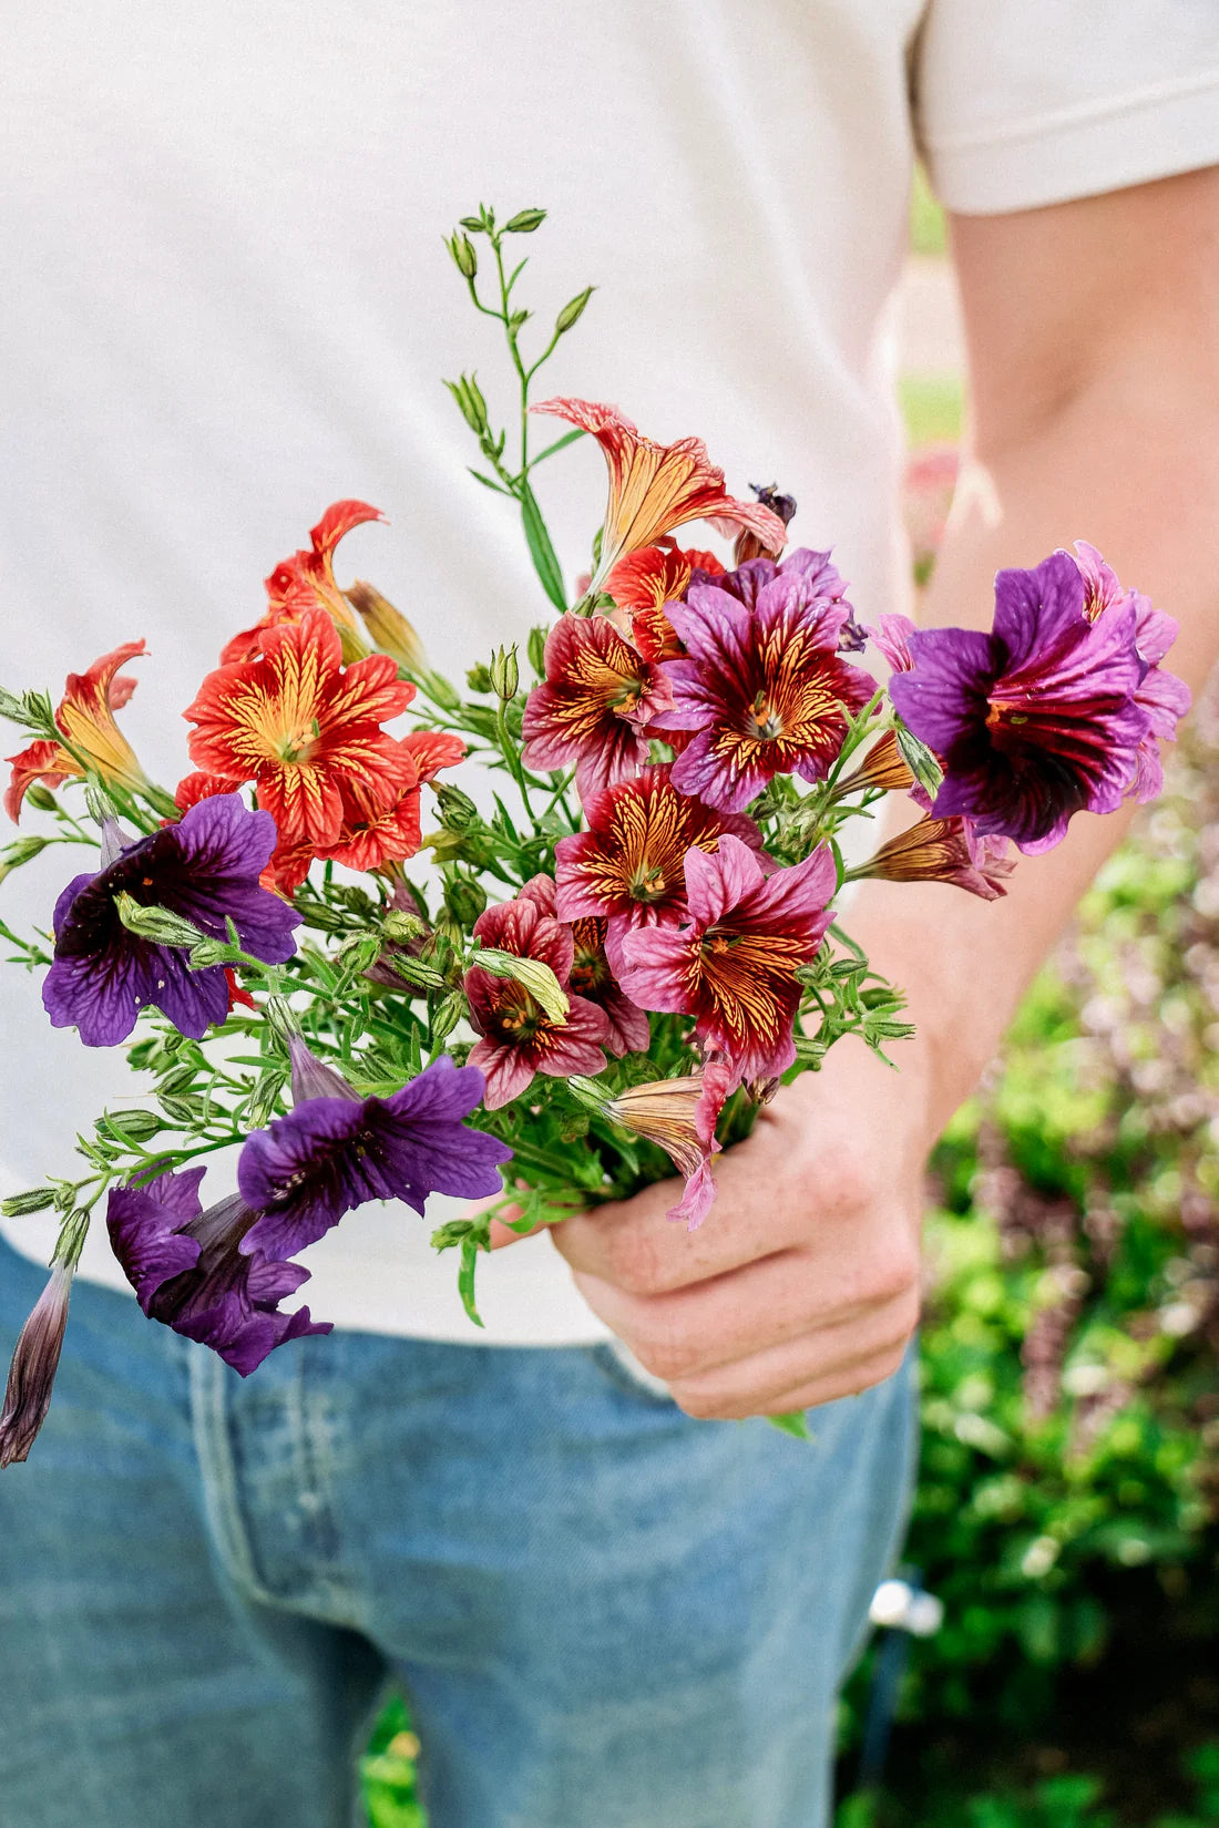
[[[0,1351],[44,1272],[0,1243]],[[822,1828],[910,1369],[693,1422],[607,1347],[334,1333],[243,1382],[77,1285],[0,1475],[4,1828],[347,1828],[398,1680],[433,1828]]]

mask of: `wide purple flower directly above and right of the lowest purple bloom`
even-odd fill
[[[289,1047],[296,1108],[256,1130],[238,1163],[241,1197],[260,1214],[243,1250],[302,1250],[367,1199],[404,1199],[422,1214],[428,1194],[501,1190],[512,1150],[462,1122],[482,1097],[475,1066],[440,1055],[389,1099],[360,1099],[300,1038]]]

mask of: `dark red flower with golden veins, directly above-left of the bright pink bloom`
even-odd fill
[[[711,852],[724,832],[760,850],[762,837],[742,813],[722,813],[673,786],[669,768],[645,768],[636,781],[585,802],[587,832],[556,846],[556,909],[561,919],[607,919],[607,952],[621,972],[621,945],[638,927],[676,927],[689,914],[685,859]]]

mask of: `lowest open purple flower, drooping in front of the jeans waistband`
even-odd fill
[[[249,1245],[260,1214],[232,1194],[207,1212],[203,1168],[163,1174],[148,1186],[115,1186],[106,1225],[113,1252],[150,1320],[201,1340],[249,1376],[267,1353],[305,1333],[329,1333],[307,1307],[281,1314],[309,1270]]]

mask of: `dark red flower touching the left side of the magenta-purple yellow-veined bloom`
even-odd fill
[[[673,704],[660,667],[605,616],[572,614],[546,636],[545,664],[546,684],[525,706],[525,766],[574,760],[581,799],[638,773],[647,760],[643,728]]]

